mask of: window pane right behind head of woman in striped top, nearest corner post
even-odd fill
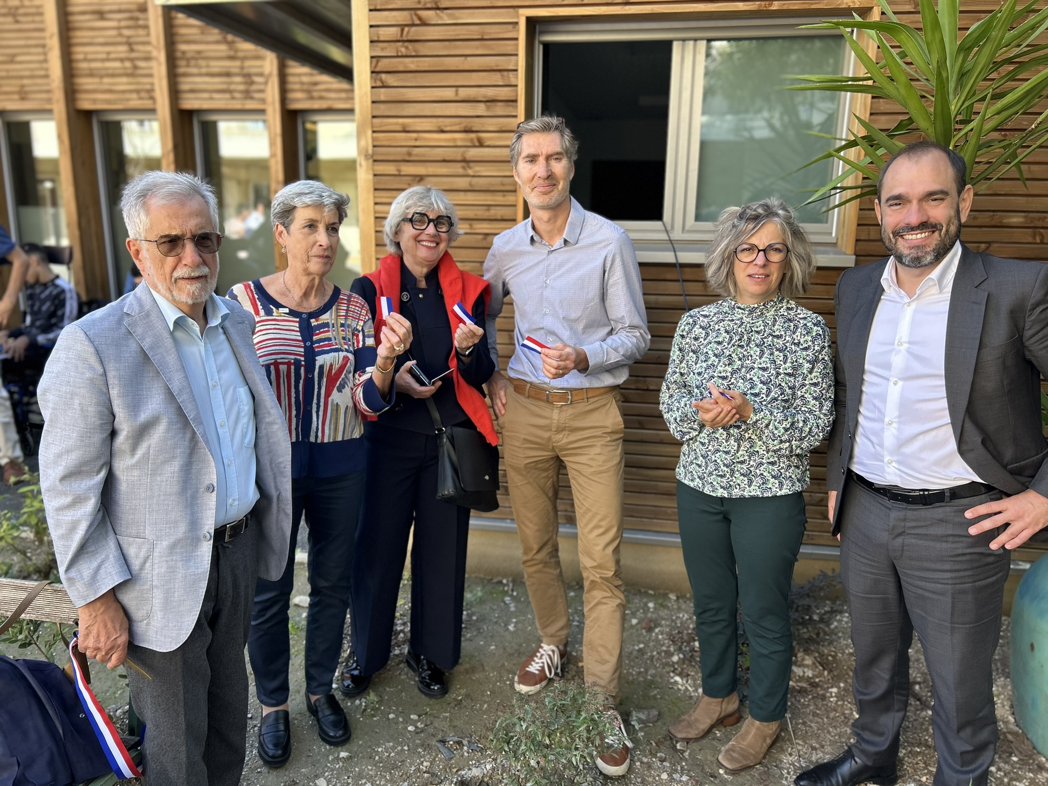
[[[339,232],[339,254],[328,278],[348,289],[361,275],[361,221],[356,200],[356,123],[308,119],[302,124],[306,177],[349,195],[349,213]]]

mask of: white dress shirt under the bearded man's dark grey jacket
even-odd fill
[[[957,452],[946,408],[946,318],[961,244],[910,298],[895,259],[880,277],[880,297],[866,348],[855,451],[849,466],[874,483],[949,488],[981,479]]]

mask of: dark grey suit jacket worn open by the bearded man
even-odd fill
[[[826,486],[836,514],[858,422],[866,348],[883,294],[887,259],[845,270],[837,318],[836,420]],[[958,453],[1005,494],[1048,497],[1048,441],[1041,424],[1041,374],[1048,372],[1048,264],[1001,259],[961,246],[946,316],[946,406]],[[839,527],[833,525],[836,534]]]

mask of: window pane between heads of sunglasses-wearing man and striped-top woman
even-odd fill
[[[202,176],[218,192],[218,292],[275,269],[265,121],[201,121]]]

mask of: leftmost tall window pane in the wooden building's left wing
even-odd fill
[[[6,132],[19,242],[69,245],[54,121],[8,122]]]

